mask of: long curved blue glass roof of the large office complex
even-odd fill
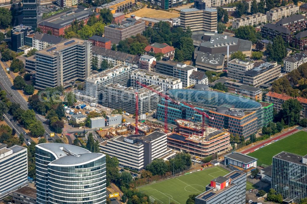
[[[216,91],[169,89],[167,94],[175,100],[201,107],[225,107],[238,108],[242,110],[257,110],[262,107],[261,104],[255,100]]]

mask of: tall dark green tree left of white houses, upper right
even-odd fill
[[[282,62],[282,59],[287,55],[285,41],[282,39],[281,35],[276,36],[272,46],[270,46],[269,43],[266,49],[268,51],[269,60]]]

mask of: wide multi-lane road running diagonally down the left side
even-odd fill
[[[7,66],[5,68],[7,68]],[[20,104],[20,107],[24,110],[32,109],[32,107],[25,100],[25,98],[22,97],[20,93],[16,89],[13,88],[13,84],[10,81],[9,77],[7,77],[6,72],[4,71],[2,67],[2,63],[0,63],[0,85],[6,91],[6,93],[8,93],[9,95],[8,97],[10,98],[12,102],[16,102]],[[46,119],[44,118],[44,116],[36,113],[36,118],[37,120],[42,122],[44,129],[45,129],[44,137],[46,138],[47,134],[50,134],[53,131],[50,130],[49,126],[45,123]],[[48,139],[51,139],[54,142],[55,139],[61,139],[61,138],[55,134],[54,137],[49,137]]]

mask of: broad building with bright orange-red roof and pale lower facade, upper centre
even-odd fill
[[[162,53],[163,56],[169,57],[169,59],[174,59],[175,48],[169,46],[166,43],[153,43],[145,47],[145,51],[148,55]]]

